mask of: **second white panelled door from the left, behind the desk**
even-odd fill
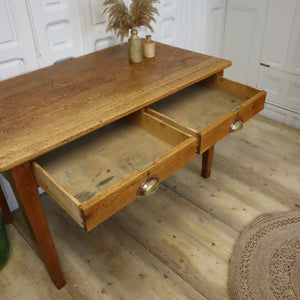
[[[82,54],[77,0],[29,0],[41,67]]]

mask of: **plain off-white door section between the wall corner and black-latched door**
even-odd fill
[[[226,77],[256,86],[267,7],[268,0],[228,0],[223,57],[233,65]]]

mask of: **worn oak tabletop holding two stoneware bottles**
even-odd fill
[[[115,46],[0,82],[0,172],[33,160],[231,65],[156,44],[128,62]]]

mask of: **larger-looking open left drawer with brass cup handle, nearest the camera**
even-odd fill
[[[197,139],[145,112],[33,162],[41,186],[87,231],[195,157]]]

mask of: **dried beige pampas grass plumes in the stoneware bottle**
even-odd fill
[[[154,14],[158,10],[153,5],[159,0],[132,0],[128,7],[123,0],[105,0],[103,5],[107,6],[104,13],[108,15],[106,31],[114,31],[123,42],[129,35],[130,29],[145,27],[153,32],[151,22],[155,22]]]

